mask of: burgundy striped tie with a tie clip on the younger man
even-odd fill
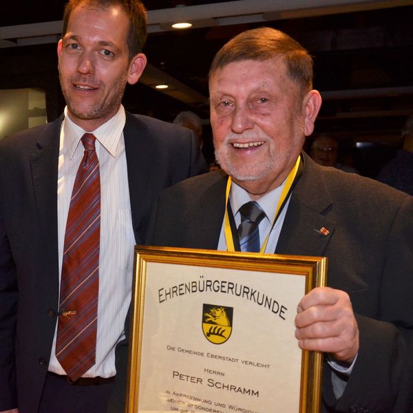
[[[95,363],[98,319],[100,176],[96,138],[82,136],[85,152],[67,215],[56,357],[75,381]]]

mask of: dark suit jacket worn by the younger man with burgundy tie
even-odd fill
[[[0,411],[18,404],[19,413],[36,412],[47,372],[59,295],[61,121],[0,142]],[[142,244],[160,190],[207,165],[189,129],[127,113],[124,136],[132,222]]]

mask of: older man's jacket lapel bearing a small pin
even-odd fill
[[[279,235],[277,254],[323,256],[335,230],[335,222],[324,215],[332,199],[323,176],[307,156],[304,164]]]

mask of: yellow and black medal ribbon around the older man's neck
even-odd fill
[[[295,176],[297,175],[300,162],[301,162],[301,157],[299,156],[297,159],[297,162],[295,162],[295,166],[293,167],[293,169],[291,169],[290,173],[288,173],[286,184],[284,185],[284,189],[282,190],[281,197],[279,198],[279,201],[277,204],[277,209],[275,210],[275,215],[273,218],[273,225],[271,226],[270,232],[266,236],[264,244],[262,244],[262,247],[260,249],[260,254],[264,254],[266,245],[268,244],[268,239],[270,237],[271,231],[273,229],[275,221],[277,220],[279,209],[282,207],[282,205],[284,204],[284,201],[286,200],[287,196],[290,193],[290,188],[293,185]],[[229,202],[229,193],[231,191],[231,183],[232,183],[231,176],[229,176],[228,182],[226,182],[226,191],[225,191],[224,233],[225,233],[225,241],[226,241],[226,251],[233,252],[235,251],[235,247],[234,247],[233,234],[231,231],[231,224],[229,223],[229,214],[228,214],[228,202]]]

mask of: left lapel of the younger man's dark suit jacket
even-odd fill
[[[59,285],[59,258],[57,235],[57,171],[59,162],[59,136],[63,117],[50,123],[36,142],[30,155],[32,184],[36,203],[45,260],[57,290]]]

